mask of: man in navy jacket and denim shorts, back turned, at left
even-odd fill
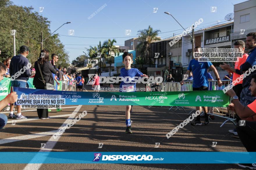
[[[11,87],[27,88],[27,81],[31,76],[31,63],[26,58],[29,55],[29,47],[23,45],[19,49],[20,54],[14,56],[10,62]],[[21,114],[21,106],[17,105],[17,116],[13,113],[14,105],[11,105],[9,118],[27,119]]]

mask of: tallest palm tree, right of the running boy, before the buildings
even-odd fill
[[[150,25],[148,26],[148,29],[138,31],[138,41],[141,43],[137,45],[136,50],[142,54],[144,59],[148,59],[150,57],[150,44],[161,40],[159,37],[157,37],[159,32],[161,31],[153,30]]]

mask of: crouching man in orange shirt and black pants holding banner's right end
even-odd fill
[[[249,90],[252,96],[256,97],[256,73],[252,74],[252,80],[250,82]],[[230,89],[226,93],[231,97],[232,103],[228,105],[228,109],[235,111],[237,115],[245,121],[245,126],[237,125],[238,136],[243,143],[243,146],[248,152],[256,152],[256,100],[247,106],[243,106],[239,100],[238,96],[233,89]],[[256,164],[239,164],[241,167],[253,167],[256,169]]]

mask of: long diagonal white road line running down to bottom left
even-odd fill
[[[73,118],[77,115],[77,112],[80,110],[81,107],[82,107],[82,105],[78,105],[77,108],[73,111],[73,113],[70,115],[69,118],[72,118],[72,119],[73,119]],[[70,122],[69,119],[65,120],[65,122],[61,125],[61,127],[59,127],[59,129],[61,129],[62,127],[64,127],[64,126],[65,126],[67,123],[69,123],[69,122]],[[59,130],[59,129],[58,129],[58,130]],[[64,133],[65,133],[65,132],[64,132]],[[54,137],[51,136],[51,138],[48,140],[48,142],[45,143],[45,148],[40,149],[39,152],[50,152],[50,151],[54,148],[54,146],[56,145],[56,143],[58,142],[58,140],[60,139],[60,137],[61,137],[61,136],[58,136],[56,139],[54,139]],[[40,158],[40,160],[42,160],[42,159],[45,159],[45,157]],[[35,155],[35,157],[31,160],[31,162],[34,162],[34,161],[36,161],[36,160],[38,160],[38,156],[37,156],[37,155]],[[42,160],[42,161],[43,161],[43,160]],[[41,166],[42,166],[42,164],[33,164],[33,163],[31,163],[31,164],[27,164],[26,167],[24,168],[24,170],[40,169]]]

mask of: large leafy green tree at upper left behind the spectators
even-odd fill
[[[22,7],[13,5],[9,0],[0,1],[0,49],[1,61],[13,56],[13,36],[10,30],[16,30],[16,54],[19,54],[19,47],[26,45],[29,47],[28,59],[34,64],[40,54],[40,36],[47,37],[50,33],[50,21],[42,17],[38,12],[33,12],[32,7]],[[58,34],[49,36],[44,41],[44,49],[50,54],[59,56],[57,65],[69,66],[69,56],[64,50],[64,45],[58,38]]]

